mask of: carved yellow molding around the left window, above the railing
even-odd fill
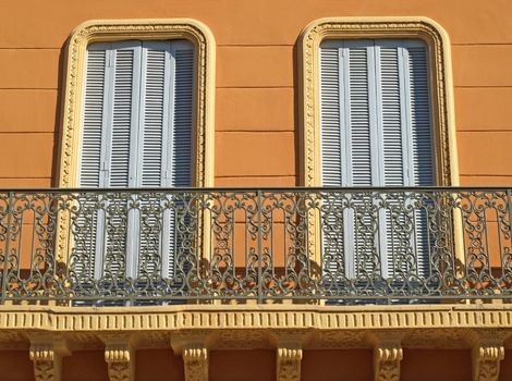
[[[194,185],[214,184],[215,49],[211,32],[191,19],[97,20],[80,25],[68,45],[59,168],[59,187],[77,185],[85,57],[89,44],[127,39],[187,39],[196,47]]]

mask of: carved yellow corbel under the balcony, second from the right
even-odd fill
[[[394,332],[374,333],[374,380],[399,381],[400,361],[403,358],[401,334]]]

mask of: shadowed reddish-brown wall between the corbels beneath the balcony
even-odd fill
[[[500,380],[510,380],[512,361],[507,351],[501,362]],[[509,359],[508,359],[509,358]],[[135,380],[184,380],[183,360],[172,351],[144,349],[136,352]],[[1,380],[34,380],[28,351],[5,351],[0,356]],[[304,351],[301,365],[303,381],[370,381],[373,373],[370,349]],[[472,379],[470,349],[404,349],[401,362],[402,381]],[[78,351],[64,357],[63,381],[108,381],[102,351]],[[211,381],[276,380],[275,351],[212,351],[209,359]]]

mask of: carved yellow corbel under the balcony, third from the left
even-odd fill
[[[209,353],[208,332],[181,332],[171,335],[171,346],[175,355],[182,355],[185,381],[207,381]]]

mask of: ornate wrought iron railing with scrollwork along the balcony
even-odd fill
[[[510,298],[511,214],[502,188],[1,190],[1,300]]]

